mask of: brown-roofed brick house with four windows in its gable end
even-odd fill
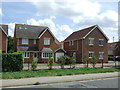
[[[91,60],[96,56],[97,62],[108,62],[108,38],[98,25],[73,32],[64,40],[64,50],[68,56],[75,56],[77,63],[82,63],[83,57]]]

